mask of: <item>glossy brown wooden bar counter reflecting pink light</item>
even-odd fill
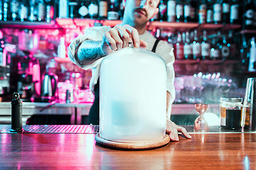
[[[96,126],[71,128],[81,127],[89,130],[9,133],[0,127],[0,169],[256,169],[255,132],[190,132],[191,140],[180,135],[158,149],[124,151],[98,145]]]

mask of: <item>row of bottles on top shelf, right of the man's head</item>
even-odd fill
[[[164,7],[166,6],[166,12]],[[159,20],[169,22],[239,23],[238,0],[161,0]]]

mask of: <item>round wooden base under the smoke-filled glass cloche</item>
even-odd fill
[[[97,135],[95,135],[95,140],[98,144],[110,149],[146,150],[156,149],[167,145],[170,142],[170,137],[166,134],[164,139],[155,140],[153,142],[114,142],[111,140],[105,140],[104,138],[100,137],[100,133],[97,133]]]

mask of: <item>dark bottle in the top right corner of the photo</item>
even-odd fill
[[[253,18],[255,14],[254,4],[252,0],[247,0],[246,6],[245,6],[245,21],[244,21],[244,27],[245,29],[252,29],[253,28]]]

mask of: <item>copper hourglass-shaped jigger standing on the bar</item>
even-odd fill
[[[208,110],[208,104],[197,103],[195,104],[196,111],[199,113],[198,118],[195,120],[194,131],[195,132],[208,132],[209,126],[206,120],[203,118],[203,114]]]

